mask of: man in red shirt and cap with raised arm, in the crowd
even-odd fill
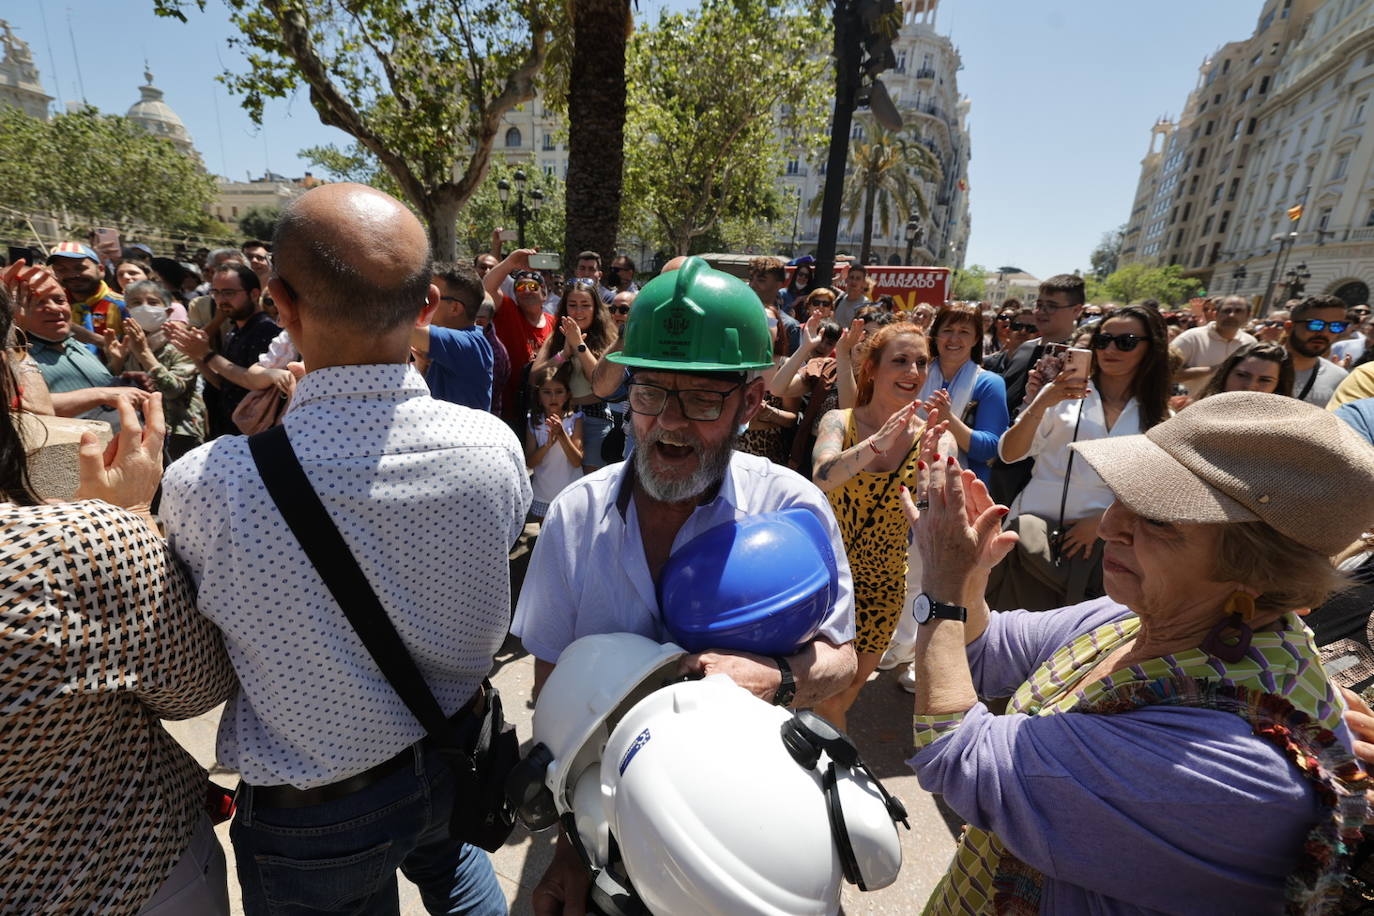
[[[534,249],[515,249],[482,277],[496,312],[492,325],[511,360],[510,379],[502,393],[503,416],[513,428],[525,428],[525,382],[539,347],[554,332],[554,317],[544,309],[545,286],[539,271],[529,266]],[[506,280],[510,280],[507,294]]]

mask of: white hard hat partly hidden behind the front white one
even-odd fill
[[[534,742],[552,755],[544,784],[559,814],[573,810],[578,776],[600,759],[616,711],[676,674],[686,652],[636,633],[584,636],[558,656],[534,705]]]

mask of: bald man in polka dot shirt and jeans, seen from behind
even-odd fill
[[[306,375],[291,448],[445,714],[474,698],[510,619],[507,551],[530,503],[495,416],[430,397],[411,330],[438,304],[419,221],[330,184],[278,231],[268,288]],[[448,836],[455,783],[272,503],[243,437],[168,468],[162,516],[240,691],[217,757],[246,913],[504,913],[486,853]]]

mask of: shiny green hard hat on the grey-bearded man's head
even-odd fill
[[[701,258],[644,284],[624,339],[624,349],[606,358],[642,369],[745,372],[774,364],[758,295]]]

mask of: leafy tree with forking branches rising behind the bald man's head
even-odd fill
[[[185,19],[206,0],[154,0]],[[308,89],[452,257],[455,216],[486,173],[502,115],[530,99],[552,0],[224,0],[246,73],[220,80],[261,121],[268,99]],[[341,154],[349,155],[349,154]]]

